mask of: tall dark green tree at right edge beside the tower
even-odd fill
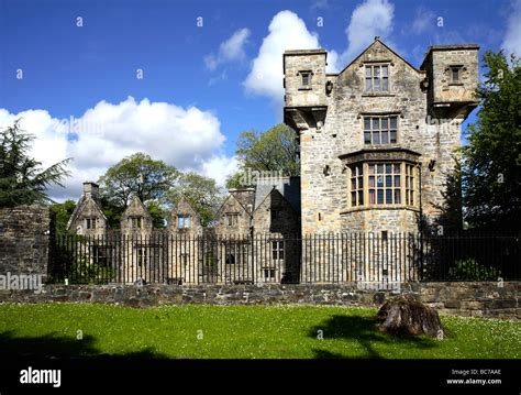
[[[521,67],[502,52],[487,52],[478,88],[481,108],[465,134],[462,186],[473,227],[519,229],[521,221]]]

